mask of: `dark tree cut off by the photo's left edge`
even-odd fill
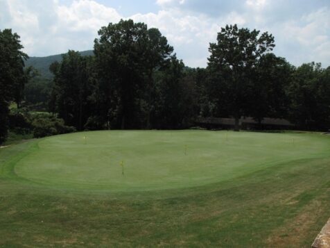
[[[7,136],[9,102],[16,99],[24,82],[24,60],[28,56],[22,48],[17,33],[0,30],[0,143]]]

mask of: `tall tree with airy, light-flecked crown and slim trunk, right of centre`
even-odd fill
[[[246,112],[252,69],[264,53],[275,47],[272,35],[259,33],[255,29],[238,29],[236,24],[227,25],[218,33],[217,42],[209,47],[208,67],[222,81],[227,107],[235,118],[236,131],[238,119]]]

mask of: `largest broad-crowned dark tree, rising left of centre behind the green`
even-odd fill
[[[155,71],[166,66],[173,47],[157,28],[121,20],[98,31],[94,42],[103,115],[113,116],[121,129],[147,126],[153,112]],[[144,106],[146,105],[146,106]],[[145,110],[144,110],[145,109]],[[144,114],[145,111],[145,114]],[[141,123],[142,119],[146,119]]]

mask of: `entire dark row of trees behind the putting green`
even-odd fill
[[[9,101],[25,99],[77,130],[184,129],[196,117],[233,117],[238,129],[242,116],[259,123],[284,118],[297,129],[330,128],[330,67],[290,65],[272,53],[275,41],[267,32],[221,28],[205,69],[185,67],[159,30],[143,23],[121,20],[98,35],[94,56],[69,51],[51,65],[53,81],[44,83],[31,76],[32,69],[24,72],[26,55],[20,44],[14,47],[15,66],[3,60],[0,66],[1,83],[10,91],[1,98],[3,117]],[[1,50],[1,58],[7,56]],[[8,65],[19,73],[2,74]]]

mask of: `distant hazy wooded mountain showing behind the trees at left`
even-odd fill
[[[93,50],[88,51],[80,51],[80,54],[82,56],[89,56],[94,55]],[[53,74],[49,71],[49,65],[55,61],[62,61],[62,54],[56,54],[46,57],[30,57],[28,60],[26,60],[25,65],[26,66],[33,66],[35,69],[37,69],[41,76],[45,78],[52,78]]]

